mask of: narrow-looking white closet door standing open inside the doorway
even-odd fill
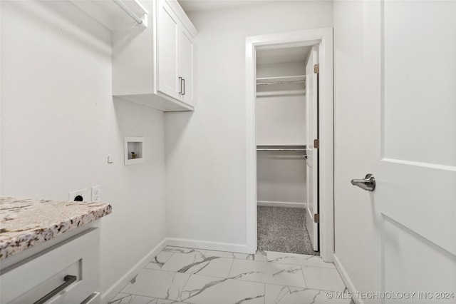
[[[306,228],[315,251],[318,251],[318,223],[314,221],[314,214],[318,213],[318,150],[314,147],[314,139],[318,138],[318,76],[314,73],[317,62],[318,55],[314,46],[306,66]]]

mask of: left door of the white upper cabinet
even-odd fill
[[[179,99],[177,37],[180,21],[164,0],[158,1],[157,14],[157,91]]]

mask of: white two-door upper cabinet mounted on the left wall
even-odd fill
[[[161,111],[193,111],[193,38],[176,0],[141,2],[147,26],[113,30],[113,96]]]

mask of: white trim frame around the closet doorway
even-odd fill
[[[309,29],[246,39],[246,252],[257,251],[257,143],[255,130],[256,51],[291,46],[319,46],[319,214],[320,255],[334,257],[333,28]]]

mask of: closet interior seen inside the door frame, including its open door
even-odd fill
[[[257,49],[258,250],[318,254],[317,49]]]

